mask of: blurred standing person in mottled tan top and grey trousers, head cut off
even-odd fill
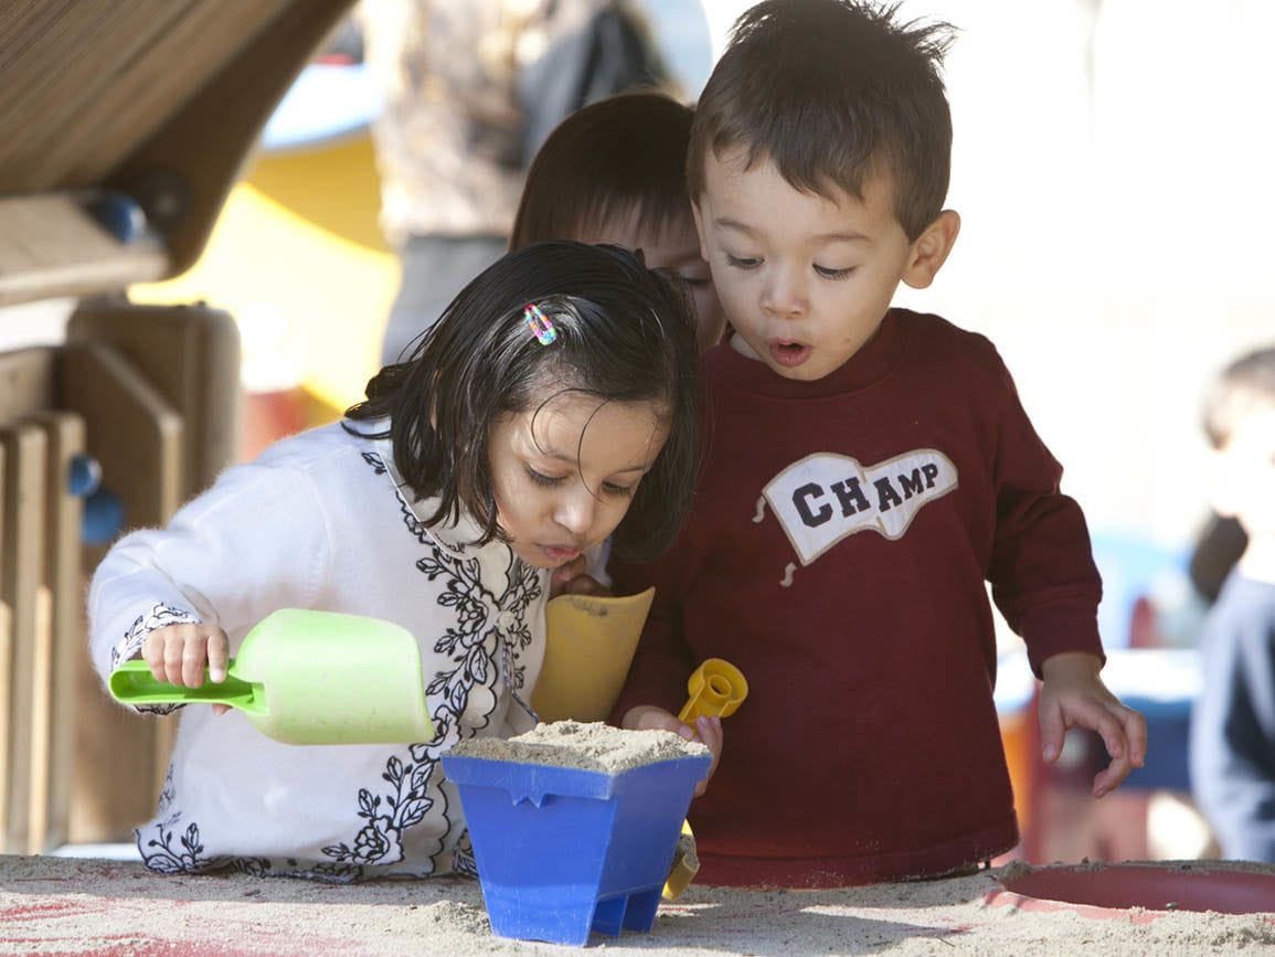
[[[525,169],[585,103],[666,70],[625,0],[365,0],[381,226],[402,280],[382,362],[505,251]]]

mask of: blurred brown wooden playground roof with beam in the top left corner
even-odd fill
[[[189,268],[274,104],[352,3],[3,0],[0,305]],[[115,213],[134,200],[145,228],[92,215],[102,190]]]

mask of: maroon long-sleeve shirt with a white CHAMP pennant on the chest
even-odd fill
[[[943,873],[1010,849],[986,584],[1033,665],[1102,654],[1079,506],[1000,356],[892,310],[841,368],[785,380],[708,357],[709,457],[616,709],[677,712],[724,658],[748,680],[691,807],[719,884],[836,886]]]

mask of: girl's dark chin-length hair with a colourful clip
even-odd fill
[[[557,339],[524,319],[534,302]],[[541,242],[506,254],[469,283],[405,362],[367,384],[353,421],[389,423],[394,464],[417,498],[441,501],[427,524],[462,511],[501,538],[488,455],[501,415],[576,391],[664,407],[668,440],[617,526],[612,548],[650,558],[672,543],[690,503],[699,454],[695,312],[680,287],[618,246]]]

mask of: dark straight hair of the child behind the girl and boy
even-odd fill
[[[690,219],[686,147],[691,108],[657,92],[621,93],[560,122],[527,173],[511,250],[529,242],[585,238],[638,210],[638,227],[659,234]]]

